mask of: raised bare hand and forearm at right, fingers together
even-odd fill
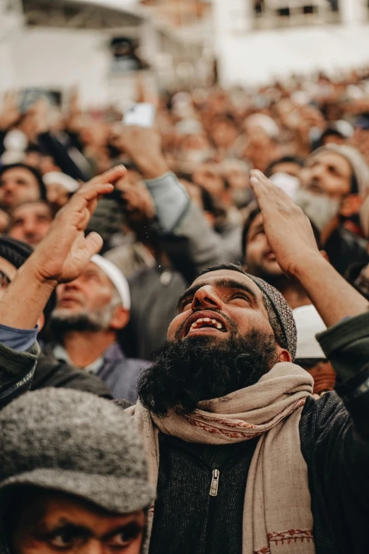
[[[368,301],[317,249],[310,221],[303,210],[261,171],[252,170],[250,184],[277,262],[286,275],[300,282],[327,327],[368,311]]]

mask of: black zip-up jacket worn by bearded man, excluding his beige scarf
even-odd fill
[[[338,394],[307,398],[296,445],[307,463],[316,553],[369,553],[369,313],[330,328],[320,343],[336,369]],[[209,446],[160,433],[150,554],[242,553],[257,440]],[[220,477],[211,497],[214,469]]]

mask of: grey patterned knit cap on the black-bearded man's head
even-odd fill
[[[259,277],[246,274],[262,291],[264,304],[268,311],[271,328],[274,330],[276,341],[282,348],[286,348],[295,359],[297,345],[297,330],[293,313],[281,293],[271,284]]]

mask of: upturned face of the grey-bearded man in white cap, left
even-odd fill
[[[127,325],[128,318],[114,285],[93,262],[77,279],[57,287],[54,330],[117,330]]]

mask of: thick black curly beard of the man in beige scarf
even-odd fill
[[[168,342],[156,363],[141,375],[139,400],[158,416],[169,410],[190,413],[201,400],[254,385],[277,361],[274,336],[256,331],[220,342],[196,336]]]

